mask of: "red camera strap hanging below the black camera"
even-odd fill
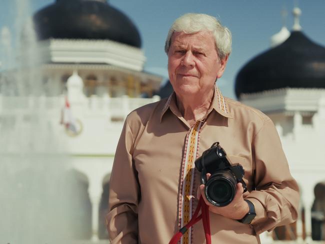
[[[201,209],[201,214],[199,216],[198,212]],[[195,212],[189,222],[181,227],[177,233],[172,236],[169,241],[169,244],[177,244],[177,241],[180,237],[190,228],[193,224],[195,224],[198,220],[202,219],[204,233],[205,233],[205,240],[206,244],[211,244],[211,233],[210,233],[210,219],[209,219],[209,208],[208,205],[204,202],[202,196],[200,197]]]

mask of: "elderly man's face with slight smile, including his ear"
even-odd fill
[[[221,77],[227,57],[220,60],[210,32],[174,32],[168,50],[168,75],[178,96],[207,94]]]

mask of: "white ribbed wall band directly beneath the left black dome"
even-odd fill
[[[42,63],[106,63],[141,71],[146,59],[140,48],[112,40],[48,39],[38,48]]]

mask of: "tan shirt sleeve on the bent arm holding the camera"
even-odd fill
[[[255,134],[252,154],[256,190],[245,198],[255,206],[256,217],[251,224],[259,234],[296,220],[299,190],[289,172],[280,138],[270,119],[264,120]]]

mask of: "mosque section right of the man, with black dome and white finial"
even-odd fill
[[[324,240],[325,47],[302,32],[300,14],[295,7],[292,31],[283,27],[272,36],[270,49],[239,70],[235,93],[272,119],[300,187],[300,219],[277,228],[273,236]]]

